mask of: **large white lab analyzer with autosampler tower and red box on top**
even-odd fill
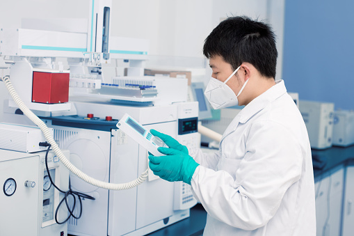
[[[83,198],[81,219],[67,221],[68,232],[74,235],[144,235],[185,219],[196,203],[191,189],[182,182],[170,183],[153,175],[147,179],[147,151],[115,126],[124,113],[129,113],[146,129],[163,129],[181,143],[194,147],[200,144],[195,125],[198,104],[185,102],[187,79],[144,77],[147,40],[111,37],[110,8],[111,1],[90,1],[87,31],[77,27],[83,22],[74,19],[49,19],[49,24],[33,19],[26,28],[0,31],[0,52],[10,65],[11,79],[3,81],[12,96],[4,104],[4,120],[22,125],[33,125],[31,120],[35,120],[58,159],[72,171],[72,189],[96,198]],[[97,38],[92,37],[95,35]],[[122,74],[118,73],[120,68],[113,67],[113,73],[105,68],[119,60],[127,67]],[[10,81],[33,113],[19,102]],[[49,89],[56,83],[61,84],[59,94]],[[48,93],[41,97],[40,90]],[[58,145],[51,137],[53,130]],[[70,150],[74,165],[61,155],[59,146]],[[40,186],[48,196],[55,194],[47,180],[49,173],[57,180],[58,172],[51,168],[49,172],[32,171],[42,175],[42,182],[34,188]],[[14,180],[16,196],[19,185]],[[45,200],[46,207],[47,203]],[[51,208],[47,210],[50,215]],[[74,214],[78,211],[75,209]]]

